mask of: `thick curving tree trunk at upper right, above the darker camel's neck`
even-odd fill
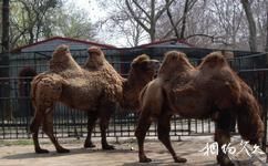
[[[248,20],[249,48],[250,48],[250,51],[257,51],[257,30],[256,30],[256,22],[254,20],[251,7],[248,0],[241,0],[241,4]]]

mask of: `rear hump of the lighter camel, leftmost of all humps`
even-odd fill
[[[69,46],[65,45],[65,44],[62,44],[62,45],[59,45],[54,50],[54,52],[52,54],[51,61],[54,61],[54,62],[64,62],[64,61],[70,60],[70,58],[72,58],[72,56],[71,56]]]

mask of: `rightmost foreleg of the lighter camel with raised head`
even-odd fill
[[[102,136],[102,149],[114,149],[114,146],[109,145],[106,139],[109,121],[111,115],[114,113],[114,111],[115,111],[115,104],[112,102],[102,104],[100,108],[100,128],[101,128],[101,136]]]

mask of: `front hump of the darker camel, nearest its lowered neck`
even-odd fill
[[[226,58],[221,52],[217,51],[206,55],[199,64],[199,69],[215,69],[223,68],[225,65],[228,65]]]

